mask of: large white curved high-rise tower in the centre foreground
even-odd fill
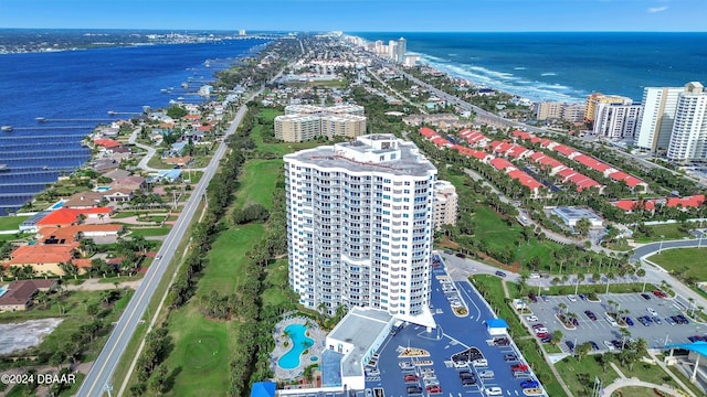
[[[368,135],[286,154],[289,285],[307,308],[370,307],[434,326],[436,169],[414,143]]]

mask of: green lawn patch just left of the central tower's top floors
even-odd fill
[[[273,192],[275,181],[284,172],[282,160],[251,160],[245,163],[241,172],[241,186],[235,193],[233,207],[243,208],[249,204],[261,204],[267,210],[273,208]]]

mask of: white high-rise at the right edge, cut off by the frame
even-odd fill
[[[667,159],[707,160],[707,92],[700,83],[688,83],[678,96]]]

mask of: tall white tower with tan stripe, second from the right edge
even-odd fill
[[[677,99],[683,87],[646,87],[643,90],[643,116],[639,120],[634,144],[652,152],[667,149],[675,122]]]

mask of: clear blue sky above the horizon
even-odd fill
[[[707,31],[707,0],[0,0],[0,28]]]

